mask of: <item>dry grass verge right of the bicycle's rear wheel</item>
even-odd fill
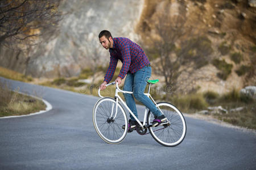
[[[205,92],[204,94],[153,95],[154,99],[168,101],[184,113],[195,113],[207,110],[208,107],[217,107],[221,105],[221,107],[226,109],[228,113],[210,113],[213,117],[232,125],[256,129],[255,100],[247,96],[241,96],[240,91],[236,89],[222,95],[212,91]],[[241,111],[232,111],[232,109],[240,107],[243,108]]]

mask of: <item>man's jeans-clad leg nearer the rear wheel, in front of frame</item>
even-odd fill
[[[134,97],[141,101],[148,109],[150,109],[150,112],[154,114],[154,116],[161,116],[162,113],[156,108],[155,104],[150,100],[149,97],[144,95],[144,91],[147,85],[147,80],[151,76],[151,67],[143,67],[141,70],[138,70],[134,74]]]

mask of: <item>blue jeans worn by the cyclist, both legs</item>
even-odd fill
[[[125,91],[133,91],[133,94],[123,94],[125,96],[125,101],[127,106],[131,109],[131,112],[138,118],[137,108],[135,105],[135,99],[141,101],[154,116],[160,116],[162,113],[156,108],[155,104],[150,100],[149,97],[144,95],[144,91],[147,85],[147,80],[151,76],[151,67],[145,66],[141,70],[138,70],[134,74],[127,73],[125,79],[125,85],[123,86],[123,90]],[[133,97],[134,95],[134,97]],[[135,118],[130,114],[131,120],[135,120]]]

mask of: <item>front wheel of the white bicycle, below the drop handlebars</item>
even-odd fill
[[[115,100],[112,97],[103,97],[97,101],[93,109],[93,125],[98,135],[110,144],[122,142],[128,129],[125,111],[118,103],[116,112]]]

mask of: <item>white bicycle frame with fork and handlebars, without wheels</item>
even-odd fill
[[[112,105],[112,113],[110,115],[110,118],[113,117],[113,119],[117,116],[117,107],[118,107],[118,100],[121,101],[121,103],[123,105],[125,105],[126,109],[131,113],[131,115],[135,118],[135,120],[138,122],[138,124],[142,127],[142,129],[144,128],[144,125],[146,125],[146,118],[147,118],[147,108],[145,107],[145,111],[144,111],[144,118],[143,118],[143,124],[141,124],[141,121],[138,120],[138,118],[134,115],[133,112],[131,112],[130,108],[126,105],[125,101],[122,100],[122,98],[118,95],[119,92],[122,92],[123,94],[133,94],[133,92],[131,91],[123,91],[121,90],[119,87],[118,87],[118,83],[115,83],[115,82],[112,82],[112,83],[109,83],[109,84],[106,84],[106,86],[109,86],[109,85],[113,85],[113,84],[116,84],[116,87],[115,87],[115,115],[113,117],[113,112],[114,112],[114,104]],[[150,86],[151,84],[149,84],[148,86],[148,91],[147,93],[144,93],[144,95],[146,95],[147,97],[149,97],[153,102],[154,104],[156,105],[156,107],[158,107],[158,105],[156,104],[155,100],[152,98],[152,96],[150,95]],[[98,90],[98,95],[102,98],[104,96],[101,96],[100,94],[100,88]],[[158,107],[159,111],[163,114],[163,112],[161,111],[161,109]],[[168,122],[168,121],[167,121]]]

